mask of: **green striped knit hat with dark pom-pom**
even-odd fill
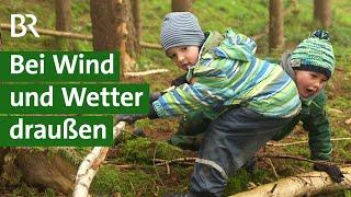
[[[320,30],[312,33],[307,39],[298,44],[291,59],[294,70],[320,72],[329,79],[336,65],[329,33]]]

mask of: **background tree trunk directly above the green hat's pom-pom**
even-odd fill
[[[324,28],[331,25],[331,0],[315,0],[314,19]]]

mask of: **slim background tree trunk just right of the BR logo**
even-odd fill
[[[70,0],[55,0],[56,31],[70,32],[71,26],[71,3]],[[56,37],[58,46],[68,50],[72,40]]]

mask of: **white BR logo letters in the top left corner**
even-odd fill
[[[31,22],[24,25],[26,20],[31,20]],[[35,37],[39,37],[39,34],[37,34],[34,28],[36,22],[36,16],[33,14],[11,14],[11,37],[22,37],[26,34],[27,30],[30,30]]]

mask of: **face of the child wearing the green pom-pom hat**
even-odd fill
[[[328,81],[327,77],[319,72],[295,70],[295,73],[298,94],[304,99],[318,93]]]

